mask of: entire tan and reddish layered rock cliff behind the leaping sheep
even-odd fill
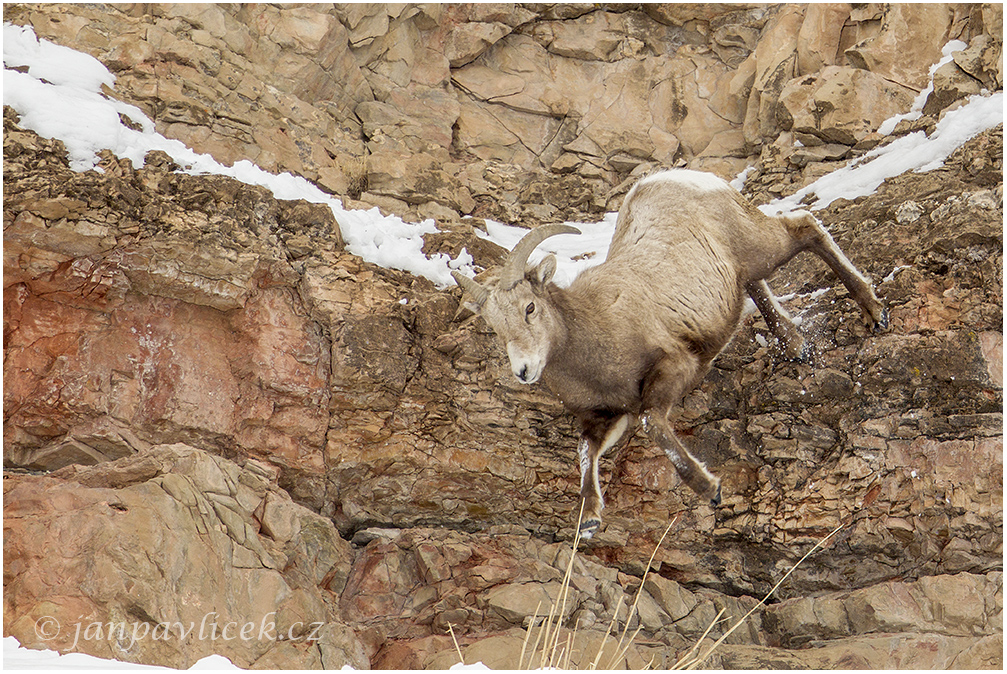
[[[429,251],[464,246],[482,266],[502,251],[461,215],[590,216],[658,165],[752,164],[755,200],[790,193],[883,142],[871,130],[907,109],[948,39],[970,46],[896,133],[1002,88],[989,5],[23,5],[5,19],[98,56],[165,135],[349,207],[436,217]],[[621,664],[674,663],[841,524],[708,664],[1001,664],[1002,156],[999,127],[942,169],[819,212],[892,329],[868,333],[817,259],[774,277],[815,361],[782,361],[751,316],[687,398],[680,432],[723,477],[720,509],[640,437],[605,460],[606,525],[567,605],[578,657],[625,617],[678,515]],[[450,625],[466,661],[515,666],[576,518],[559,404],[509,377],[457,291],[342,250],[327,209],[158,153],[101,167],[71,171],[5,109],[4,634],[179,667],[215,652],[425,668],[456,661]],[[85,636],[119,623],[147,632]],[[229,624],[254,627],[226,639]]]

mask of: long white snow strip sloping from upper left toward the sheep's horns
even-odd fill
[[[269,173],[245,160],[225,166],[208,154],[193,152],[157,133],[139,108],[102,94],[102,87],[115,85],[115,77],[98,59],[38,39],[27,26],[4,23],[3,38],[4,105],[17,111],[23,127],[61,140],[74,170],[100,170],[96,166],[98,152],[106,149],[129,159],[137,168],[143,166],[147,152],[162,150],[185,173],[227,175],[266,187],[277,198],[328,206],[346,250],[368,262],[423,276],[438,287],[454,284],[452,269],[474,273],[467,252],[458,258],[423,254],[424,235],[438,231],[432,220],[407,223],[396,216],[383,216],[378,209],[348,211],[339,199],[300,176]],[[15,68],[19,70],[11,70]],[[139,130],[126,126],[120,116]]]

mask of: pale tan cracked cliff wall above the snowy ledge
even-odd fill
[[[838,160],[908,108],[1003,86],[997,5],[15,5],[157,130],[444,224],[615,210],[659,165]],[[930,113],[930,110],[926,111]],[[774,150],[772,148],[775,148]],[[794,162],[807,174],[807,158]],[[802,170],[796,170],[801,168]]]

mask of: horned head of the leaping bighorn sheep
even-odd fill
[[[452,272],[471,301],[466,306],[479,313],[503,341],[511,371],[525,384],[539,381],[549,358],[549,349],[561,329],[547,286],[556,272],[556,257],[547,256],[534,267],[527,267],[528,257],[549,237],[557,234],[580,234],[567,225],[548,225],[532,230],[522,239],[503,263],[499,279],[485,285]]]

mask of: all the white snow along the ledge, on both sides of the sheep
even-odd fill
[[[932,73],[951,58],[953,51],[965,47],[964,42],[945,45],[944,58],[930,69]],[[224,166],[207,154],[198,154],[180,141],[158,134],[140,109],[106,98],[101,88],[113,87],[115,76],[98,59],[38,39],[30,27],[9,22],[3,26],[5,105],[14,108],[21,123],[47,138],[63,141],[75,170],[101,170],[97,153],[111,150],[128,158],[134,166],[143,165],[150,150],[162,150],[191,174],[227,175],[243,182],[270,189],[277,198],[305,199],[324,204],[332,210],[346,250],[367,262],[401,269],[433,281],[438,287],[454,285],[451,271],[474,276],[472,257],[465,251],[456,258],[443,253],[423,254],[423,237],[437,232],[432,220],[407,223],[397,216],[383,216],[375,208],[370,211],[348,211],[339,199],[326,194],[317,186],[290,173],[268,173],[250,161],[238,161]],[[18,69],[18,70],[11,70]],[[26,72],[21,72],[26,71]],[[882,125],[882,130],[894,127],[900,119],[910,119],[922,107],[922,95],[905,115],[895,116]],[[139,127],[134,130],[122,123],[126,117]],[[767,215],[777,215],[801,208],[802,201],[815,196],[813,210],[828,207],[837,198],[854,199],[874,193],[886,178],[906,171],[927,171],[943,165],[945,159],[970,138],[1003,122],[1003,92],[977,95],[966,105],[949,112],[938,123],[930,137],[922,131],[868,152],[846,166],[829,173],[797,193],[759,207]],[[890,130],[889,130],[890,131]],[[740,186],[746,173],[735,178],[732,185]],[[581,236],[564,235],[549,239],[531,258],[537,263],[548,253],[556,254],[559,266],[556,283],[568,286],[584,269],[605,260],[608,244],[615,230],[615,214],[607,214],[599,223],[569,223],[580,229]],[[527,230],[486,221],[486,232],[478,236],[512,249]]]

